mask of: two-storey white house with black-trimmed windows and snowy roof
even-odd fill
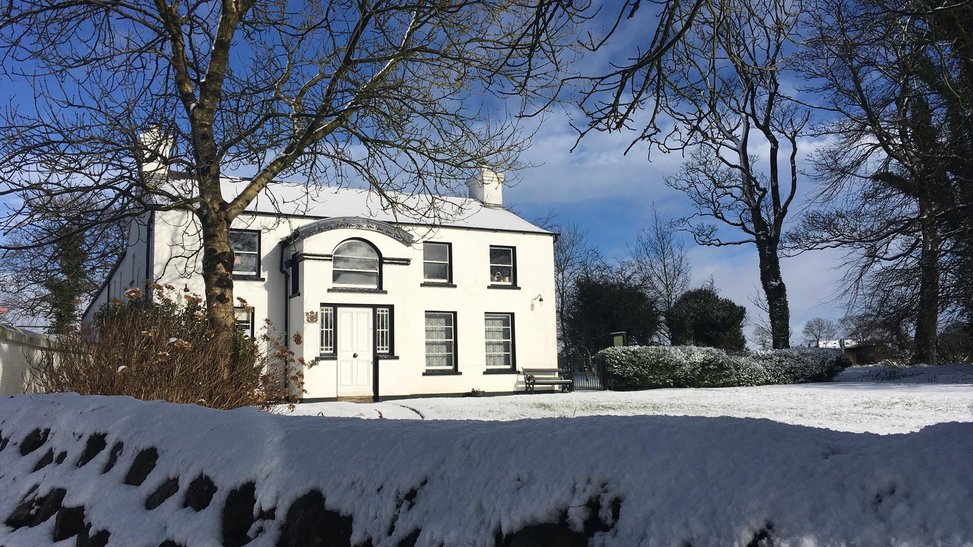
[[[470,198],[436,207],[394,195],[408,214],[368,191],[271,184],[231,233],[234,296],[252,308],[237,310],[238,323],[253,332],[270,318],[316,361],[306,400],[523,390],[520,369],[557,363],[556,235],[505,209],[503,182],[484,169],[467,181]],[[231,199],[245,181],[223,184]],[[132,223],[86,320],[147,279],[202,295],[198,248],[188,211]]]

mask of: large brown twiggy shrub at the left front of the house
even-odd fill
[[[131,289],[126,301],[115,299],[91,324],[62,335],[58,350],[34,367],[40,387],[218,409],[267,408],[302,388],[300,366],[289,366],[294,372],[284,382],[284,364],[303,363],[271,336],[270,322],[255,339],[237,332],[233,350],[220,351],[211,344],[198,295],[169,285],[150,288],[152,297]]]

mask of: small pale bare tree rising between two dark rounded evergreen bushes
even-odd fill
[[[652,203],[649,227],[629,245],[631,266],[643,290],[667,311],[689,289],[693,268],[677,226]]]

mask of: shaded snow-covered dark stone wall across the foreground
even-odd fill
[[[0,439],[6,547],[973,545],[970,423],[325,419],[63,394],[0,399]]]

